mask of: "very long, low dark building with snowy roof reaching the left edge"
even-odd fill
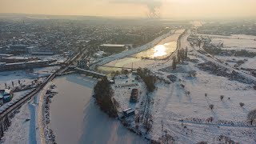
[[[49,64],[54,61],[36,61],[36,62],[17,62],[17,63],[2,63],[0,65],[0,71],[10,71],[10,70],[26,70],[38,67],[49,66]]]

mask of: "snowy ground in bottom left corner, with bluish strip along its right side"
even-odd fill
[[[17,96],[17,95],[16,95]],[[1,143],[37,143],[38,122],[37,119],[38,98],[37,96],[30,102],[23,105],[14,113],[14,118],[10,119],[11,125],[4,132]]]

